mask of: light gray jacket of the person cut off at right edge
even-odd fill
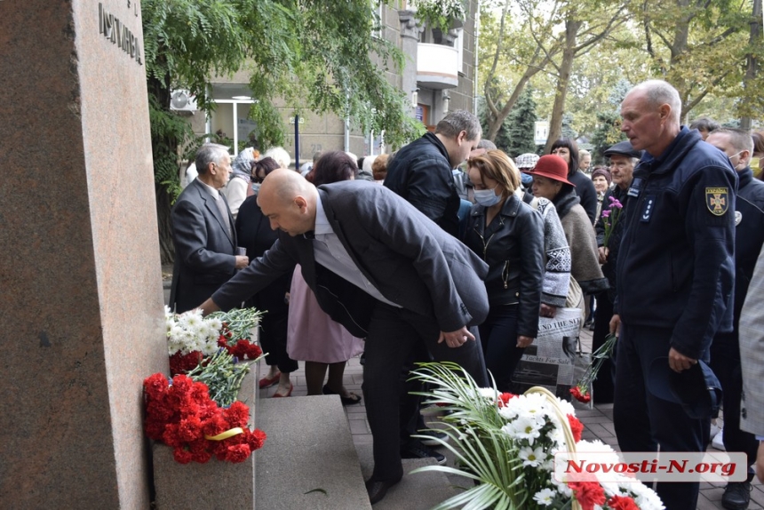
[[[743,398],[740,428],[764,435],[764,250],[759,254],[738,325]]]

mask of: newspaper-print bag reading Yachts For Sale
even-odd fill
[[[515,393],[543,386],[570,400],[581,318],[580,308],[558,308],[553,318],[539,317],[537,338],[526,347],[513,373]]]

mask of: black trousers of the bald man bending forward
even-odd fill
[[[401,371],[412,353],[429,352],[434,361],[458,363],[481,386],[487,386],[480,343],[461,347],[438,343],[440,327],[433,317],[378,302],[371,315],[363,365],[363,398],[374,441],[374,473],[378,481],[401,479],[401,426],[418,409],[400,384]],[[411,409],[409,409],[411,408]]]

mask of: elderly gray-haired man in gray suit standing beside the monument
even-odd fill
[[[170,307],[178,313],[197,307],[249,263],[236,255],[234,219],[219,192],[231,174],[227,147],[204,144],[195,163],[199,176],[180,194],[171,216],[175,266]]]

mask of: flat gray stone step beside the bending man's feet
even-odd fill
[[[257,426],[255,508],[370,510],[338,395],[260,399]]]

